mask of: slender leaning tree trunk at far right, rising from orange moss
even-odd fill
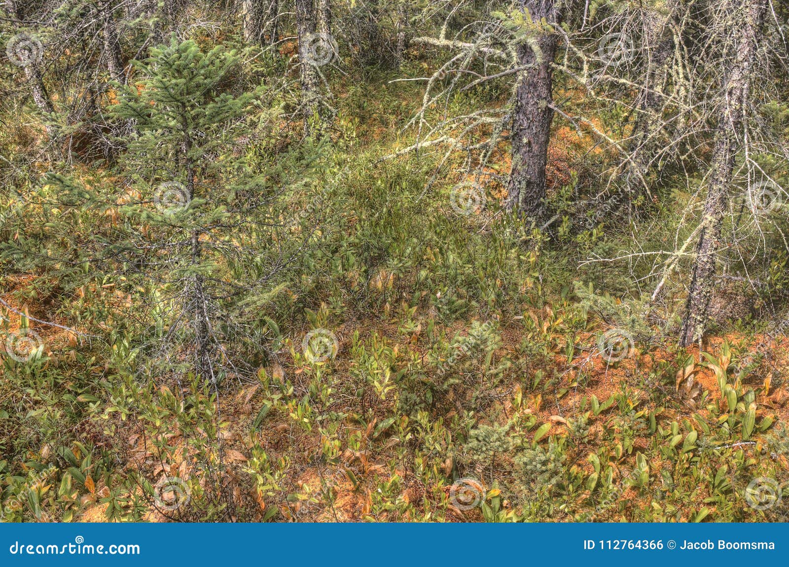
[[[757,53],[757,42],[765,17],[766,0],[730,0],[727,9],[720,10],[731,18],[727,26],[735,42],[731,67],[724,69],[721,113],[715,134],[715,148],[709,174],[709,189],[701,221],[701,232],[696,250],[696,265],[690,282],[690,295],[682,323],[680,346],[700,341],[707,323],[707,311],[712,299],[716,252],[720,248],[720,233],[728,202],[727,189],[731,185],[735,156],[742,145],[741,133],[749,106],[751,73]],[[731,22],[731,23],[730,23]],[[727,40],[728,37],[724,38]]]

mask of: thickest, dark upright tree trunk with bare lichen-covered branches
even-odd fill
[[[554,0],[527,0],[533,21],[558,24]],[[512,125],[512,170],[507,185],[507,209],[529,216],[544,215],[545,166],[553,121],[551,64],[557,36],[546,32],[536,39],[539,52],[528,43],[518,46],[518,65],[531,65],[518,77]]]

